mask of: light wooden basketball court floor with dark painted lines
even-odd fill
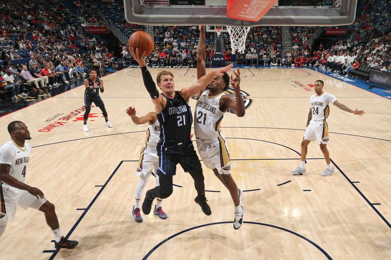
[[[196,69],[169,69],[176,89],[196,81]],[[207,71],[210,69],[207,69]],[[160,69],[151,69],[155,78]],[[228,191],[204,166],[212,215],[195,204],[193,180],[177,168],[174,193],[163,200],[167,220],[151,213],[136,223],[131,209],[135,175],[147,125],[134,125],[125,110],[153,111],[139,68],[102,78],[102,99],[114,128],[96,107],[83,132],[84,86],[0,118],[22,120],[33,146],[27,183],[56,205],[63,233],[78,240],[73,250],[54,250],[43,214],[18,209],[0,244],[1,259],[390,259],[391,103],[311,69],[240,69],[246,115],[227,113],[221,123],[232,172],[245,192],[244,224],[234,230]],[[331,105],[328,149],[308,148],[307,173],[290,171],[300,161],[311,84],[363,117]],[[194,109],[195,100],[190,101]],[[66,120],[68,119],[68,120]],[[151,178],[153,179],[153,178]],[[147,189],[154,186],[150,180]]]

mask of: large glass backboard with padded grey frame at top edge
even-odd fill
[[[339,26],[354,22],[357,0],[279,0],[255,22],[227,18],[227,0],[124,0],[124,4],[126,20],[137,24]]]

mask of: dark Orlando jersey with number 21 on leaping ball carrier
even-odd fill
[[[157,114],[157,120],[160,123],[161,145],[189,142],[193,124],[190,106],[179,91],[175,91],[174,99],[162,95],[167,99],[167,104],[164,110]]]

